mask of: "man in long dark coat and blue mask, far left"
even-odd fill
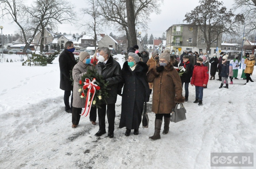
[[[76,64],[74,57],[74,44],[71,41],[65,43],[65,50],[59,56],[59,69],[60,69],[60,89],[64,90],[64,104],[65,110],[72,113],[73,102],[73,86],[70,80],[70,71]],[[71,95],[72,91],[72,95]],[[71,106],[69,106],[69,96],[71,95]]]

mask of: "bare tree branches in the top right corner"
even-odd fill
[[[245,33],[256,30],[256,0],[234,0],[234,9],[241,9],[245,16]]]

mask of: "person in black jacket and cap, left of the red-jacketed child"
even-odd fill
[[[184,55],[183,62],[180,63],[180,66],[183,66],[186,69],[186,71],[181,76],[182,88],[183,88],[183,83],[185,83],[185,101],[188,101],[188,86],[189,86],[191,77],[193,75],[193,69],[194,69],[194,66],[189,61],[190,57],[194,57],[194,56]]]

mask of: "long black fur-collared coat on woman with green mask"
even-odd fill
[[[119,128],[139,129],[144,102],[150,97],[147,71],[147,64],[142,61],[137,63],[133,71],[127,61],[123,65],[121,86],[124,85],[124,89]]]

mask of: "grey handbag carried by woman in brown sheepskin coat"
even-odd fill
[[[182,120],[186,120],[186,109],[184,108],[183,104],[181,103],[180,104],[180,108],[178,109],[178,105],[179,104],[176,104],[175,108],[172,109],[172,113],[171,113],[171,120],[172,122],[174,123],[177,123],[179,121],[182,121]]]

